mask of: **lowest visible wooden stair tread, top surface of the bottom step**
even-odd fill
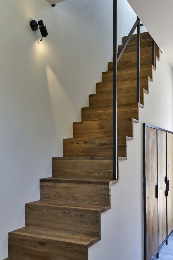
[[[24,227],[21,229],[17,229],[15,231],[10,232],[10,234],[18,234],[23,236],[29,236],[34,238],[44,238],[61,242],[68,242],[72,244],[78,245],[86,245],[89,246],[94,243],[95,240],[98,240],[98,237],[90,237],[88,235],[79,235],[72,234],[67,232],[59,232],[53,230],[41,230],[36,228],[28,228]]]

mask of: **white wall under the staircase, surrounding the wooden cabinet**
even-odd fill
[[[143,123],[173,131],[173,71],[164,54],[149,82],[127,160],[120,162],[120,183],[111,186],[111,210],[101,214],[101,241],[89,248],[89,260],[143,259]]]

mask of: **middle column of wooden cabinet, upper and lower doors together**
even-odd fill
[[[158,174],[158,245],[167,237],[167,204],[166,204],[166,132],[157,130],[157,174]]]

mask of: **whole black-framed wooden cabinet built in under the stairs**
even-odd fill
[[[155,259],[173,230],[173,133],[143,125],[144,260]]]

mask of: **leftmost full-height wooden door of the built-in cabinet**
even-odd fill
[[[146,127],[146,222],[147,260],[158,250],[157,215],[157,130]]]

